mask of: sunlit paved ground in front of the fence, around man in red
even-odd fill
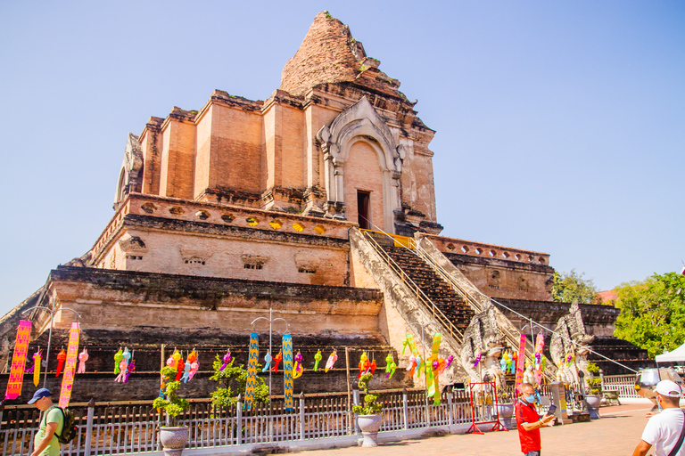
[[[651,403],[629,403],[602,407],[599,409],[602,418],[590,423],[542,428],[542,454],[544,456],[632,454],[635,446],[640,442],[642,429],[647,423],[645,414],[650,409]],[[473,434],[450,435],[381,444],[376,448],[351,447],[306,453],[311,456],[318,456],[319,454],[326,454],[326,456],[397,456],[398,454],[412,454],[414,456],[444,454],[512,456],[522,454],[516,428],[509,432],[490,432],[484,436]]]

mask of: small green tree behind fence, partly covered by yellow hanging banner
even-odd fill
[[[245,397],[247,370],[243,364],[234,366],[234,363],[235,358],[228,363],[223,371],[219,371],[223,365],[219,354],[217,354],[216,359],[212,363],[211,367],[214,370],[214,374],[210,379],[218,381],[219,387],[211,393],[211,403],[218,408],[226,407],[229,403],[235,403],[238,395],[242,395],[243,398]],[[257,368],[259,369],[260,367],[261,364],[257,364]],[[254,402],[268,403],[268,387],[261,377],[257,377],[254,387]]]

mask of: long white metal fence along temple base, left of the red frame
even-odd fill
[[[309,404],[308,404],[309,401]],[[354,394],[359,403],[359,393]],[[443,393],[442,404],[425,403],[423,391],[385,395],[384,420],[380,432],[403,429],[436,428],[471,422],[468,396],[463,391]],[[186,448],[260,444],[322,439],[359,434],[354,414],[346,398],[310,400],[301,397],[293,411],[268,407],[243,411],[237,403],[226,410],[209,404],[194,404],[194,409],[179,419],[189,428]],[[65,456],[104,456],[161,450],[158,429],[161,415],[151,406],[101,407],[95,403],[76,412],[78,436],[62,447]],[[0,411],[0,448],[2,455],[29,455],[39,424],[37,411],[29,409]]]

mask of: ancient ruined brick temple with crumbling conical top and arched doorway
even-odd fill
[[[473,321],[490,312],[499,335],[526,324],[492,314],[489,297],[554,326],[569,305],[551,302],[549,255],[439,235],[434,132],[379,64],[321,12],[266,100],[215,90],[198,110],[174,108],[128,134],[111,222],[86,255],[54,269],[45,289],[4,317],[3,365],[21,311],[39,299],[56,309],[53,354],[74,319],[59,309],[81,316],[90,360],[75,400],[153,397],[162,344],[167,356],[197,348],[201,371],[187,394],[207,396],[210,362],[227,346],[246,362],[254,330],[265,354],[268,325],[251,322],[269,309],[304,355],[295,388],[305,392],[347,389],[344,347],[353,377],[364,350],[380,369],[389,352],[405,367],[405,333],[421,334],[411,322],[430,322],[424,345],[438,330],[441,355],[461,360],[442,382],[465,379],[464,364],[490,340]],[[35,323],[33,353],[45,346],[50,314],[25,318]],[[615,310],[588,308],[582,319],[586,332],[608,336]],[[285,327],[275,329],[277,350]],[[135,350],[126,385],[112,383],[120,346]],[[338,350],[334,371],[311,370],[318,349],[325,358]],[[50,371],[54,364],[52,355]],[[404,369],[378,377],[373,387],[414,381]],[[33,390],[27,379],[24,395]]]

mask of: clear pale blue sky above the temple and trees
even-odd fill
[[[0,314],[112,215],[128,132],[263,100],[328,10],[437,130],[443,234],[599,289],[685,259],[683,2],[0,3]]]

